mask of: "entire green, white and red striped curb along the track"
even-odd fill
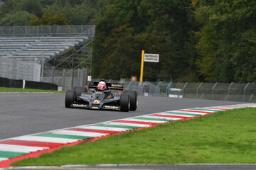
[[[218,111],[247,107],[256,108],[256,104],[246,103],[230,106],[180,109],[176,111],[140,115],[133,118],[111,120],[92,125],[53,130],[39,134],[12,137],[6,140],[0,140],[0,168],[7,168],[11,163],[18,160],[38,157],[43,153],[53,152],[67,145],[78,145],[81,142],[92,142],[102,137],[117,135],[131,130],[142,130],[143,128],[150,128],[163,123],[171,123],[176,120],[188,120]]]

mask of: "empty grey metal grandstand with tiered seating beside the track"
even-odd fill
[[[90,74],[94,37],[94,25],[0,27],[0,77],[63,90],[81,86]]]

